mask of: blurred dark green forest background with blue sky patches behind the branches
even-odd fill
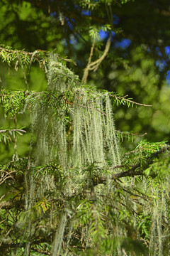
[[[110,4],[110,5],[109,5]],[[110,9],[111,6],[111,9]],[[89,59],[93,33],[98,36],[94,60],[102,53],[111,33],[111,48],[96,72],[91,71],[89,85],[128,95],[135,102],[152,107],[114,107],[116,129],[145,134],[149,142],[169,142],[170,134],[170,4],[168,0],[142,1],[1,1],[1,47],[18,50],[55,51],[74,60],[68,67],[82,78]],[[109,30],[101,28],[109,24]],[[18,75],[19,74],[19,75]],[[0,64],[1,87],[23,88],[22,69],[16,72]],[[45,90],[44,73],[34,64],[27,74],[30,90]],[[26,119],[29,119],[26,117]],[[18,126],[26,126],[18,115]],[[1,127],[11,126],[1,110]],[[29,120],[27,120],[29,123]],[[135,137],[139,142],[141,137]],[[18,139],[19,154],[28,151],[29,134]],[[130,149],[130,143],[124,146]],[[1,145],[1,161],[13,152]]]

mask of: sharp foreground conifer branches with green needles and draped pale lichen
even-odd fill
[[[15,149],[0,166],[1,254],[169,255],[170,147],[143,140],[123,155],[124,134],[115,130],[113,104],[140,104],[80,82],[54,53],[21,51],[28,63],[2,53],[23,77],[34,60],[42,63],[47,90],[1,90],[15,127],[0,131],[1,144]],[[18,128],[28,114],[28,127]],[[30,151],[21,157],[16,138],[26,132]]]

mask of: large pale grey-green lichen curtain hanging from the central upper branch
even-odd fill
[[[38,164],[57,161],[64,169],[92,163],[100,167],[120,164],[109,96],[94,93],[89,98],[88,91],[75,82],[77,77],[72,71],[53,56],[49,60],[47,78],[49,104],[37,102],[32,111]],[[72,93],[72,102],[67,100],[68,92]],[[52,93],[59,102],[58,109],[54,110],[53,106],[53,111]],[[69,134],[67,118],[70,118],[72,134]]]

